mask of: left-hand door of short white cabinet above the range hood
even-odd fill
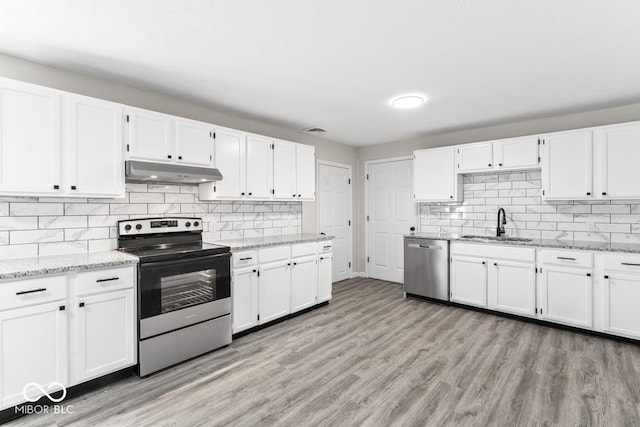
[[[129,159],[173,161],[171,116],[129,108],[127,117]]]

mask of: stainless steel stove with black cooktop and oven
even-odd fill
[[[231,252],[201,218],[119,221],[118,248],[139,257],[138,375],[231,342]]]

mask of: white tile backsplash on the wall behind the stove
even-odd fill
[[[0,197],[0,258],[103,251],[116,223],[162,216],[201,217],[215,241],[299,233],[300,202],[201,202],[195,185],[127,184],[122,199]]]

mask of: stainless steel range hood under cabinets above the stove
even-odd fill
[[[222,180],[222,174],[216,168],[135,160],[125,162],[125,175],[127,182],[147,184],[202,184]]]

